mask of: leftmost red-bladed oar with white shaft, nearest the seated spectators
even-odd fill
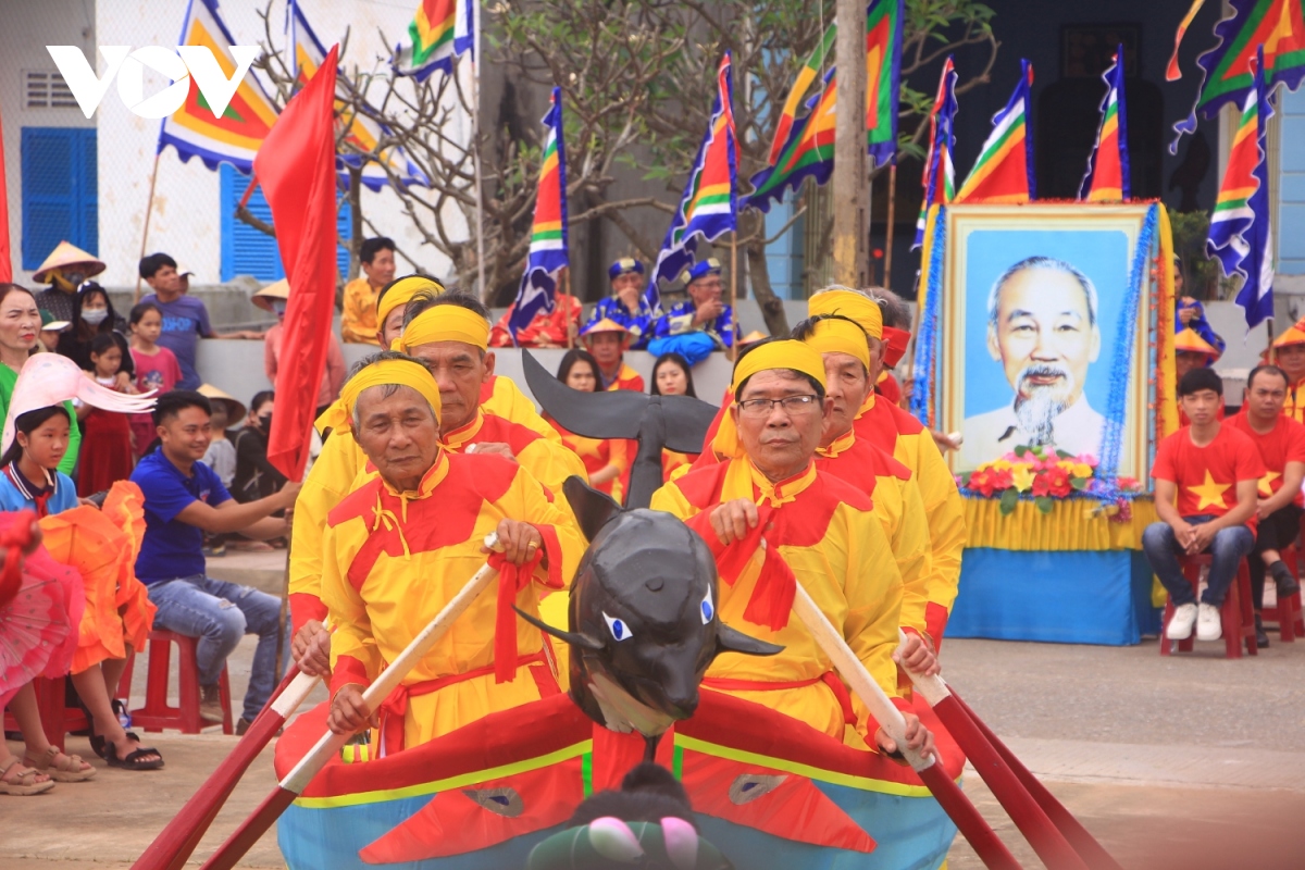
[[[320,677],[299,673],[299,665],[290,669],[244,737],[185,802],[181,811],[159,831],[154,843],[132,865],[132,870],[180,870],[185,866],[218,810],[231,797],[236,783],[286,720],[304,703],[318,680]]]

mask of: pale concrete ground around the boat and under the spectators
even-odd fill
[[[232,553],[213,560],[210,573],[277,592],[283,565],[283,552]],[[231,659],[238,711],[253,648],[245,638]],[[1154,640],[1121,648],[954,639],[944,663],[957,691],[1124,867],[1305,867],[1305,642],[1275,639],[1238,661],[1221,650],[1198,644],[1163,659]],[[145,668],[136,673],[133,706],[144,702]],[[0,867],[125,870],[235,742],[217,729],[142,736],[163,753],[164,770],[129,773],[93,758],[102,770],[90,783],[0,796]],[[85,738],[69,737],[69,749],[91,757]],[[270,754],[251,767],[192,863],[275,785]],[[964,787],[1021,863],[1041,866],[972,768]],[[275,836],[239,866],[282,867]],[[958,839],[949,867],[983,863]]]

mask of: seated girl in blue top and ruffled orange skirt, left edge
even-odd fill
[[[47,548],[55,561],[78,570],[82,577],[86,607],[70,673],[73,686],[91,715],[91,749],[110,767],[157,770],[163,766],[163,757],[154,749],[142,747],[140,737],[123,729],[111,700],[127,667],[127,656],[132,653],[127,637],[142,640],[153,622],[154,607],[145,599],[144,587],[124,558],[134,562],[134,548],[94,507],[78,507],[73,481],[57,470],[74,429],[61,404],[18,415],[14,429],[13,445],[0,458],[0,510],[35,511],[43,527],[64,511],[85,511],[76,530],[67,523],[48,526],[55,531],[54,540],[47,539]],[[106,511],[116,514],[120,505],[120,498],[115,498],[112,505],[106,501]],[[144,518],[144,507],[137,503],[137,509]],[[130,507],[127,510],[130,511]],[[98,547],[91,544],[97,539]],[[124,601],[121,609],[119,599]],[[127,621],[132,622],[130,629]],[[50,746],[39,727],[40,715],[35,703],[30,683],[20,690],[13,702],[27,743],[26,763],[63,781],[93,776],[86,773],[89,764]]]

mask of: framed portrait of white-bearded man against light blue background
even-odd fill
[[[964,436],[953,472],[1043,446],[1147,480],[1151,207],[946,209],[936,408],[942,432]]]

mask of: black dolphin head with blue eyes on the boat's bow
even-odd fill
[[[577,477],[565,492],[590,540],[572,583],[570,630],[526,618],[572,646],[570,694],[590,719],[654,737],[693,715],[718,655],[783,648],[720,621],[711,550],[683,522],[621,510]]]

